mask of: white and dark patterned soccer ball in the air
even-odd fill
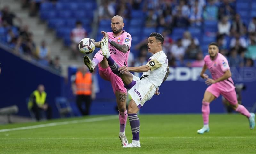
[[[95,43],[90,38],[84,38],[78,44],[79,51],[84,54],[90,54],[95,50]]]

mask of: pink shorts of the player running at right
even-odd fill
[[[232,105],[237,104],[237,96],[236,96],[235,89],[229,92],[225,92],[225,91],[221,91],[217,85],[212,84],[206,89],[206,91],[209,91],[210,93],[212,93],[216,98],[218,98],[221,94],[224,98],[226,98],[226,100],[230,102],[230,104]]]

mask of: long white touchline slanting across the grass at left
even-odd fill
[[[43,127],[51,127],[51,126],[60,126],[60,125],[76,124],[76,123],[83,123],[83,122],[96,122],[96,121],[111,120],[111,119],[116,119],[116,118],[118,118],[117,115],[111,115],[111,116],[104,116],[104,117],[97,117],[97,118],[90,118],[90,119],[83,119],[83,120],[52,122],[52,123],[40,124],[40,125],[34,125],[34,126],[17,127],[17,128],[10,128],[10,129],[0,129],[0,132],[35,129],[35,128],[43,128]]]

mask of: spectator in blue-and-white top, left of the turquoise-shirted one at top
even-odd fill
[[[198,0],[195,0],[194,5],[191,7],[191,14],[189,19],[191,26],[200,27],[202,25],[202,8],[199,6]]]

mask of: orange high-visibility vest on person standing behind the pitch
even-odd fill
[[[76,94],[91,95],[92,94],[92,74],[82,72],[76,73]]]

